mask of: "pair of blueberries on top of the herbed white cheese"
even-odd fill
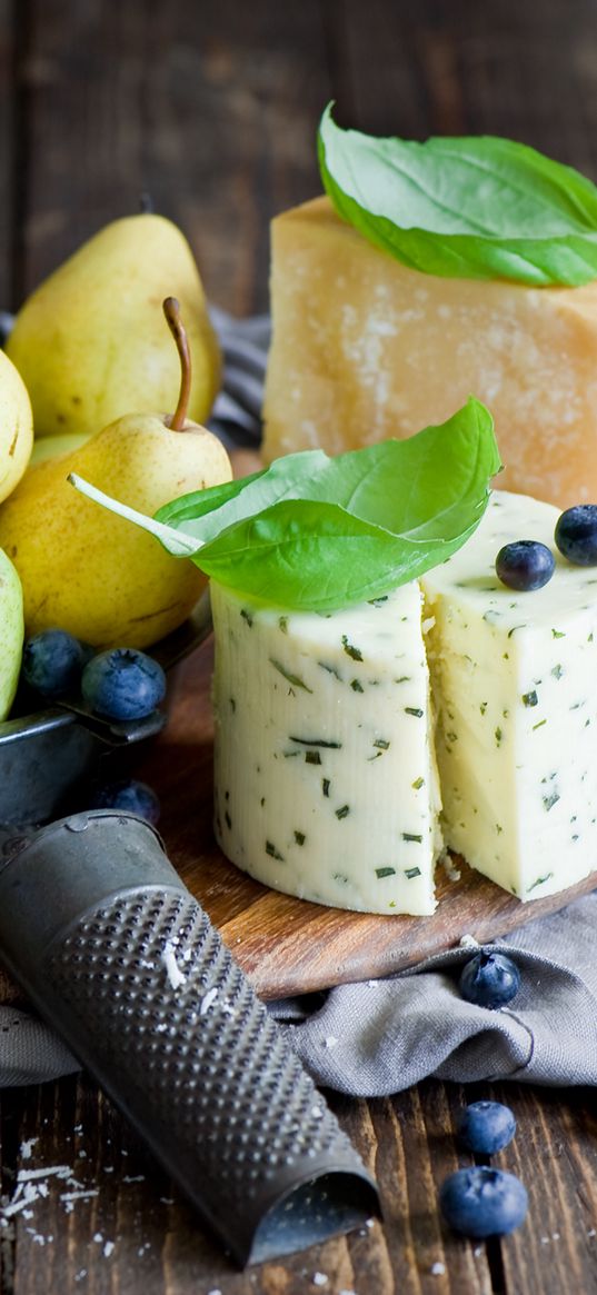
[[[597,565],[597,504],[575,504],[558,518],[556,546],[574,566]],[[513,540],[500,549],[496,572],[508,589],[543,589],[556,570],[556,558],[539,540]]]

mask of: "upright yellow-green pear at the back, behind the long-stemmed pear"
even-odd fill
[[[155,310],[175,293],[193,357],[189,417],[203,422],[220,354],[190,247],[163,216],[100,231],[28,298],[6,343],[34,408],[36,436],[98,431],[137,409],[167,409],[176,355]]]

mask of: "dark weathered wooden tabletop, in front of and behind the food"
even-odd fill
[[[188,233],[214,300],[267,308],[268,219],[319,190],[315,130],[332,97],[346,124],[509,135],[597,179],[597,4],[0,0],[0,308],[142,189]],[[201,668],[186,663],[179,717],[144,767],[174,859],[177,776],[197,755],[177,725]],[[460,1241],[436,1213],[439,1182],[466,1163],[455,1116],[480,1096],[517,1114],[496,1163],[531,1199],[502,1243]],[[240,1274],[87,1077],[3,1092],[4,1200],[19,1167],[73,1167],[83,1195],[67,1210],[51,1180],[34,1217],[0,1230],[0,1295],[597,1290],[593,1093],[427,1081],[332,1102],[378,1177],[383,1229]]]

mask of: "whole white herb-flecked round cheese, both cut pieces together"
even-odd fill
[[[434,910],[442,830],[522,900],[597,868],[597,569],[557,556],[532,593],[495,574],[510,540],[553,549],[558,515],[496,491],[422,578],[422,620],[417,583],[328,616],[212,585],[215,822],[234,864],[320,904],[412,914]]]

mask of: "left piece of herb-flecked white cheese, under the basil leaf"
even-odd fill
[[[332,615],[212,584],[215,828],[275,890],[433,913],[442,850],[421,592]]]

